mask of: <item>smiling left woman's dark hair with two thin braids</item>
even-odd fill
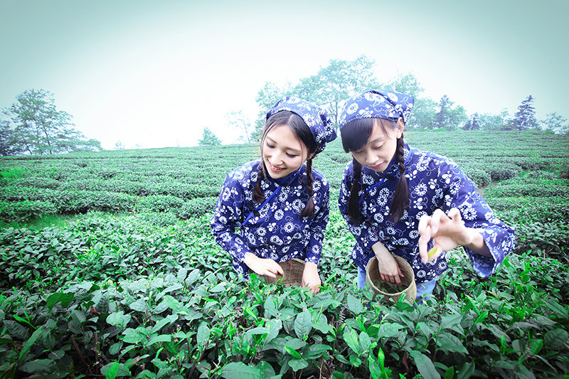
[[[314,215],[314,200],[312,200],[312,181],[314,180],[314,178],[312,178],[312,155],[318,147],[316,140],[314,139],[314,135],[302,117],[294,112],[282,110],[275,114],[272,114],[272,116],[269,117],[265,123],[265,129],[263,130],[261,138],[261,156],[263,146],[265,146],[265,138],[267,137],[267,134],[277,125],[287,125],[292,130],[292,133],[300,140],[300,142],[302,142],[304,146],[307,146],[308,159],[306,187],[309,199],[307,205],[304,205],[304,208],[302,209],[300,215],[301,217],[311,217]],[[255,189],[253,191],[253,201],[257,204],[265,201],[265,195],[263,195],[261,191],[261,180],[266,177],[267,169],[265,167],[265,162],[261,159],[261,164],[259,167],[259,178],[257,179],[257,183],[255,183]]]

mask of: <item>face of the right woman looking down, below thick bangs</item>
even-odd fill
[[[383,172],[389,166],[389,162],[395,156],[397,149],[397,139],[403,134],[403,121],[399,119],[397,128],[386,128],[387,134],[383,132],[381,124],[376,119],[371,130],[370,137],[365,145],[356,151],[351,151],[351,155],[362,166],[366,166],[373,171]]]

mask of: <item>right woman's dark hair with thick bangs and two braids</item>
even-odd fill
[[[381,129],[383,129],[383,133],[386,135],[388,134],[388,130],[393,132],[393,130],[398,127],[397,121],[390,119],[355,119],[344,125],[341,129],[342,146],[344,147],[344,151],[349,153],[350,151],[357,151],[361,149],[363,145],[368,142],[373,130],[373,125],[375,125],[376,122]],[[401,133],[401,137],[397,139],[397,147],[395,148],[395,159],[397,160],[401,174],[397,185],[395,186],[393,201],[391,203],[391,208],[389,209],[389,215],[393,218],[395,223],[403,217],[403,213],[405,213],[405,209],[409,205],[409,185],[407,183],[407,178],[405,178],[405,151],[403,146],[405,146],[405,141],[403,140],[403,133]],[[353,183],[348,201],[348,215],[356,223],[359,223],[360,221],[359,192],[361,191],[361,169],[361,164],[354,158]]]

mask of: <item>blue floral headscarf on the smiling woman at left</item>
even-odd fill
[[[272,106],[269,112],[267,112],[267,119],[281,110],[288,110],[302,117],[318,146],[314,155],[324,150],[326,143],[336,139],[336,128],[334,128],[326,111],[321,107],[298,97],[287,96]]]

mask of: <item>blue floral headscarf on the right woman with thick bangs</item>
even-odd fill
[[[340,116],[340,129],[354,119],[398,119],[407,123],[414,97],[395,91],[371,90],[350,97]]]

